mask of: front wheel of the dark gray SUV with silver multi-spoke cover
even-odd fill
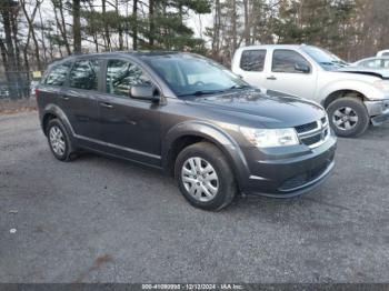
[[[237,193],[236,180],[225,154],[209,142],[184,148],[176,160],[174,175],[183,197],[196,208],[221,210]]]

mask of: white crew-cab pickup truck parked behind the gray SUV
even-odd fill
[[[389,119],[388,71],[347,67],[311,46],[253,46],[237,50],[232,71],[253,87],[306,98],[327,109],[338,136],[358,137]]]

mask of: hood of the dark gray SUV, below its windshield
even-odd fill
[[[196,98],[188,103],[223,112],[231,123],[263,128],[296,127],[317,121],[325,116],[325,110],[315,102],[296,97],[270,97],[256,89]]]

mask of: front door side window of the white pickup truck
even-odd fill
[[[296,70],[297,64],[306,64],[310,68],[309,62],[298,52],[292,50],[275,50],[272,54],[271,71],[301,73]]]

